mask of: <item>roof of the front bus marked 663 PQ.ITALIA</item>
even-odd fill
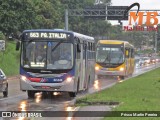
[[[83,35],[77,32],[73,32],[73,31],[67,31],[63,29],[32,29],[32,30],[24,30],[23,33],[25,32],[61,32],[61,33],[72,34],[74,37],[77,37],[79,39],[85,39],[86,41],[90,41],[90,42],[95,41],[94,38],[91,36]]]

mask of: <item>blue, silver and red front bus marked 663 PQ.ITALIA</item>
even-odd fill
[[[62,29],[24,30],[20,49],[20,89],[33,98],[36,92],[87,90],[95,77],[95,40]]]

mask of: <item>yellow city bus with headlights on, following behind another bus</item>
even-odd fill
[[[99,40],[96,46],[96,78],[118,76],[120,79],[134,72],[134,46],[127,41]]]

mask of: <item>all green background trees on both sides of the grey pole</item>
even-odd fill
[[[101,0],[111,4],[111,0]],[[95,0],[1,0],[0,30],[8,37],[18,36],[25,29],[64,28],[65,9],[83,9],[93,6]],[[122,32],[121,26],[108,21],[69,16],[69,30],[86,35],[107,36],[109,39],[126,40],[140,48],[148,39],[142,32]],[[149,39],[154,39],[149,33]],[[153,43],[151,43],[153,44]]]

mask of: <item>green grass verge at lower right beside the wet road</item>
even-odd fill
[[[114,108],[114,111],[160,111],[159,74],[160,68],[157,68],[135,78],[118,83],[109,89],[105,89],[95,94],[87,95],[85,98],[80,100],[88,102],[120,102],[121,104]],[[114,120],[116,117],[105,119]],[[120,117],[119,119],[132,120],[136,118]],[[144,119],[150,120],[151,118]]]

